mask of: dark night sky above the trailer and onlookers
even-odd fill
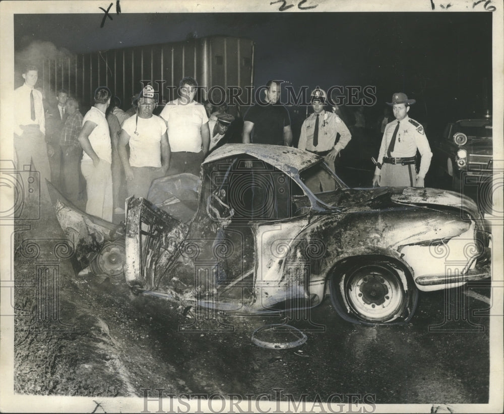
[[[16,15],[15,49],[44,40],[89,52],[223,34],[256,42],[256,86],[375,85],[377,107],[404,91],[420,120],[481,112],[485,87],[491,101],[490,13],[123,13],[100,29],[102,17]]]

